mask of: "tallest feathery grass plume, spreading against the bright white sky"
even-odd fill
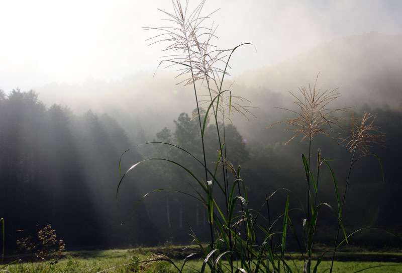
[[[211,44],[214,38],[217,38],[215,32],[218,26],[206,27],[206,21],[210,16],[218,10],[207,16],[201,16],[206,0],[203,0],[192,12],[188,13],[188,0],[185,2],[184,9],[179,0],[173,2],[173,13],[162,10],[168,19],[164,19],[171,23],[170,27],[145,27],[145,30],[154,30],[160,34],[153,36],[147,41],[149,45],[165,42],[168,45],[162,51],[173,51],[175,54],[162,56],[163,61],[170,62],[166,67],[181,65],[177,69],[179,74],[187,77],[180,83],[184,85],[192,84],[199,79],[213,79],[217,77],[217,73],[223,73],[224,70],[219,67],[219,63],[225,64],[223,58],[227,56],[229,50],[218,50]],[[210,50],[212,48],[212,50]]]

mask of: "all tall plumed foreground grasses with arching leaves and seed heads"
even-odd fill
[[[201,250],[203,261],[194,270],[200,273],[204,273],[206,268],[209,268],[211,272],[229,271],[232,273],[257,273],[259,271],[279,273],[302,270],[305,273],[335,272],[337,269],[334,267],[334,261],[339,248],[343,244],[348,244],[356,233],[367,230],[360,228],[349,233],[344,227],[345,200],[349,181],[353,177],[351,176],[353,166],[366,155],[372,155],[378,159],[382,171],[380,158],[370,149],[373,144],[384,146],[385,135],[380,128],[373,125],[374,115],[365,112],[361,118],[355,117],[353,113],[350,118],[345,117],[344,113],[352,107],[334,107],[334,101],[340,97],[338,88],[322,89],[322,86],[317,85],[317,75],[314,85],[301,86],[298,88],[299,93],[291,93],[295,99],[296,109],[279,107],[279,109],[289,112],[290,117],[274,124],[286,124],[290,127],[287,130],[294,133],[286,143],[298,136],[301,137],[300,142],[303,140],[308,142],[308,149],[301,154],[300,160],[304,167],[305,194],[300,197],[292,190],[279,188],[272,193],[266,193],[265,200],[261,200],[260,206],[251,209],[243,170],[240,165],[231,161],[231,154],[227,152],[226,139],[230,134],[226,132],[226,128],[229,126],[225,123],[232,123],[231,115],[234,113],[241,114],[246,118],[252,113],[250,106],[244,105],[245,102],[248,102],[246,99],[234,96],[230,85],[227,88],[223,87],[232,54],[239,47],[250,44],[243,43],[232,50],[215,49],[211,41],[216,38],[216,28],[214,28],[214,24],[212,27],[205,26],[205,22],[211,14],[201,15],[204,4],[205,0],[192,12],[189,12],[188,2],[185,3],[185,6],[182,6],[180,1],[173,2],[173,12],[163,12],[167,16],[165,21],[171,23],[171,26],[146,28],[158,32],[149,39],[151,44],[160,42],[167,44],[165,51],[169,51],[169,54],[163,61],[167,62],[168,66],[178,65],[178,77],[181,83],[191,86],[193,89],[196,104],[193,119],[198,121],[200,140],[198,147],[202,152],[193,154],[189,151],[190,146],[178,146],[169,141],[169,138],[146,143],[146,145],[164,147],[164,152],[160,156],[150,157],[133,164],[125,172],[121,171],[121,158],[119,163],[121,179],[116,197],[118,197],[125,177],[134,168],[137,170],[138,165],[151,161],[176,165],[192,178],[193,183],[188,183],[191,188],[181,191],[172,189],[171,185],[166,185],[166,188],[155,189],[145,194],[135,207],[148,195],[165,191],[189,196],[206,208],[208,217],[206,228],[209,230],[209,238],[198,236],[191,226],[189,227],[194,244],[198,245]],[[180,78],[181,76],[184,78]],[[203,89],[205,94],[200,95],[200,90]],[[201,107],[203,104],[204,109]],[[217,154],[212,156],[216,161],[212,161],[211,155],[206,153],[210,146],[206,142],[206,139],[209,138],[206,134],[206,125],[209,120],[216,128],[214,147]],[[341,136],[341,133],[346,133],[346,136]],[[338,134],[336,138],[341,139],[343,146],[346,146],[352,154],[350,164],[344,170],[348,174],[343,192],[340,192],[339,180],[332,168],[334,160],[328,159],[326,151],[322,151],[320,146],[317,147],[317,152],[312,149],[315,143],[313,138],[315,140],[319,135],[335,138],[334,134]],[[126,150],[122,157],[129,150]],[[178,151],[181,154],[173,157],[172,151]],[[193,162],[195,166],[189,162]],[[328,171],[324,175],[323,168]],[[165,167],[165,169],[167,168]],[[168,172],[163,169],[159,171],[162,176],[161,181],[164,181],[163,176]],[[282,171],[287,171],[286,166],[282,166]],[[263,178],[270,179],[267,176]],[[384,180],[384,175],[382,178]],[[335,202],[332,204],[328,201],[328,197],[324,199],[321,197],[320,189],[325,181],[334,187],[332,200],[335,199]],[[272,209],[270,209],[273,204],[272,200],[281,192],[285,193],[284,200],[278,203],[282,211],[273,215]],[[320,216],[323,214],[322,211],[327,211],[329,215],[332,215],[337,231],[333,235],[333,248],[322,252],[315,258],[314,244],[318,241],[317,231],[320,222],[318,216],[319,212]],[[380,231],[402,239],[395,233],[386,230]],[[298,255],[302,258],[300,264],[291,254],[293,249],[299,251]],[[330,258],[329,264],[325,264],[324,260],[328,256],[332,258]],[[164,255],[154,256],[152,259],[169,261],[175,271],[180,273],[183,271],[183,266],[178,266]],[[370,268],[360,268],[359,270],[368,269]]]

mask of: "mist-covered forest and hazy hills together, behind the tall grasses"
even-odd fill
[[[304,196],[300,193],[300,185],[305,183],[301,154],[307,153],[308,144],[300,144],[300,139],[285,144],[292,134],[283,130],[287,128],[283,124],[264,128],[287,118],[289,113],[274,107],[293,109],[294,100],[287,92],[297,94],[297,86],[313,83],[321,70],[323,88],[340,87],[336,107],[355,104],[357,107],[350,109],[355,116],[374,114],[374,124],[387,139],[386,147],[371,150],[381,159],[384,181],[376,157],[364,156],[357,162],[348,189],[348,196],[354,198],[346,199],[344,225],[348,231],[368,226],[402,233],[402,220],[394,212],[402,206],[402,148],[398,144],[402,135],[402,85],[398,76],[402,55],[397,54],[400,47],[396,46],[400,39],[377,33],[340,39],[275,67],[238,77],[232,85],[234,93],[258,107],[252,111],[258,118],[245,122],[243,117],[234,117],[233,124],[225,121],[225,147],[234,167],[241,166],[250,207],[259,209],[266,194],[278,188]],[[359,67],[364,69],[357,70]],[[190,233],[189,227],[200,238],[208,236],[206,209],[191,197],[173,191],[191,192],[197,185],[188,173],[169,162],[141,163],[123,181],[116,198],[119,160],[128,148],[132,149],[121,158],[122,172],[147,158],[168,158],[194,173],[203,171],[191,156],[173,146],[138,146],[154,140],[184,148],[198,159],[203,153],[198,117],[188,103],[193,94],[175,85],[174,79],[167,80],[173,78],[169,73],[157,74],[153,85],[147,76],[148,81],[143,80],[144,75],[137,75],[79,88],[50,84],[38,93],[15,89],[6,94],[0,90],[0,218],[5,218],[7,248],[16,248],[17,239],[36,234],[46,224],[52,225],[67,249],[155,245],[166,240],[189,243],[190,236],[183,237]],[[342,115],[350,117],[350,113]],[[208,122],[207,165],[213,169],[219,141],[212,125],[215,121]],[[219,122],[223,129],[223,121]],[[312,151],[321,148],[322,157],[334,159],[331,164],[343,192],[351,154],[338,137],[315,136]],[[325,169],[320,175],[323,201],[336,204],[330,173]],[[142,196],[157,189],[172,191],[148,195],[133,212]],[[283,213],[284,202],[284,195],[275,197],[272,213]],[[297,225],[303,221],[292,219]],[[330,213],[323,213],[320,219],[317,232],[327,243],[336,231],[336,220]],[[355,238],[355,242],[370,245],[383,240],[396,244],[385,235],[365,235],[368,237]]]

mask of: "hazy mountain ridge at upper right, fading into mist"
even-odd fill
[[[243,88],[296,92],[297,86],[313,84],[319,71],[318,83],[325,89],[339,87],[342,98],[352,104],[400,107],[402,35],[371,32],[336,39],[278,65],[247,71],[236,82]],[[255,101],[254,94],[247,94]]]

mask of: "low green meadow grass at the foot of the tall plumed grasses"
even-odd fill
[[[109,249],[109,250],[88,250],[88,251],[72,251],[66,253],[66,255],[59,259],[57,263],[52,261],[43,262],[18,262],[8,267],[5,270],[11,273],[36,273],[36,272],[51,272],[51,273],[92,273],[102,271],[107,268],[128,264],[135,261],[144,260],[149,256],[152,256],[161,250],[162,248],[155,247],[142,247],[134,249]],[[162,249],[163,250],[163,249]],[[294,253],[296,254],[296,253]],[[356,253],[350,253],[351,255]],[[372,254],[372,253],[371,253]],[[381,255],[381,253],[377,253]],[[399,254],[400,253],[393,253]],[[173,260],[177,265],[182,264],[183,259]],[[299,259],[286,259],[290,264],[290,268],[294,272],[303,272],[304,261]],[[293,263],[294,262],[294,263]],[[235,260],[235,264],[241,263],[240,260]],[[194,258],[186,262],[186,266],[183,267],[182,272],[197,272],[197,268],[202,267],[203,259]],[[327,268],[330,268],[331,261],[322,261],[318,267],[318,271],[322,272]],[[377,266],[377,267],[374,267]],[[397,262],[376,262],[376,261],[335,261],[333,272],[357,272],[362,268],[373,267],[367,269],[364,272],[402,272],[400,263]],[[301,269],[300,269],[301,268]],[[297,271],[298,269],[298,271]],[[174,266],[166,261],[160,261],[150,264],[149,266],[141,266],[138,264],[129,264],[120,266],[114,269],[110,269],[107,272],[141,272],[153,273],[153,272],[174,272],[176,271]],[[327,270],[328,271],[328,270]],[[210,268],[206,268],[205,272],[211,272]],[[224,270],[224,272],[230,272],[230,270]]]

